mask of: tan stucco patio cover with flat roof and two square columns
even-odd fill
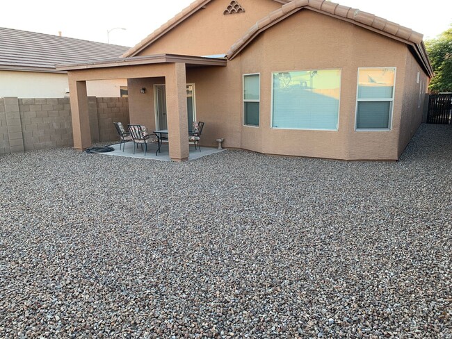
[[[223,58],[158,54],[58,65],[57,69],[67,71],[69,77],[74,148],[83,151],[92,145],[86,81],[127,78],[130,123],[143,124],[150,130],[158,129],[159,124],[152,114],[156,101],[150,88],[165,85],[168,156],[174,161],[188,160],[194,153],[188,143],[186,69],[225,67],[226,63]]]

